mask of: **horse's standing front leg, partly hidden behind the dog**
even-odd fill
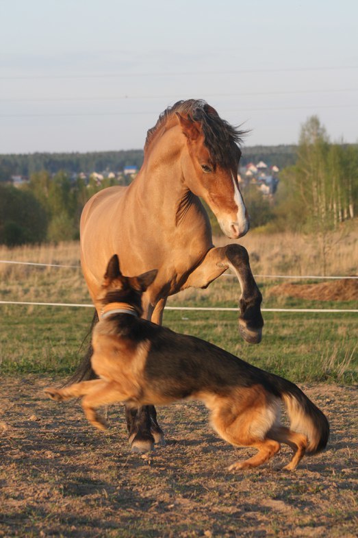
[[[144,302],[146,319],[162,325],[165,304],[166,298],[160,299],[155,308]],[[127,408],[126,406],[125,415],[131,452],[151,452],[154,443],[165,445],[164,433],[157,422],[157,411],[153,405],[140,408]]]

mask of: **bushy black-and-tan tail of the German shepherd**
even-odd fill
[[[275,376],[276,377],[276,376]],[[329,439],[329,422],[318,407],[307,398],[298,387],[283,378],[279,378],[281,400],[290,417],[290,430],[307,436],[308,454],[317,454],[324,450]]]

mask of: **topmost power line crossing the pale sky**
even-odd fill
[[[303,71],[346,71],[358,69],[354,66],[331,66],[331,67],[301,67],[301,68],[283,68],[283,69],[240,69],[237,71],[161,71],[161,72],[138,72],[138,73],[106,73],[103,75],[14,75],[2,76],[0,80],[45,80],[45,79],[103,79],[103,78],[122,78],[122,77],[174,77],[174,76],[191,76],[199,75],[246,75],[253,73],[302,73]]]

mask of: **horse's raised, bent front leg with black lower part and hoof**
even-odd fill
[[[190,273],[181,289],[206,288],[229,268],[235,272],[241,286],[240,334],[248,343],[259,343],[264,326],[260,309],[262,295],[251,272],[248,252],[242,245],[233,243],[209,250],[198,267]]]

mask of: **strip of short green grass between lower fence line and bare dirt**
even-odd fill
[[[292,306],[292,300],[288,303]],[[294,306],[305,308],[303,303],[294,300]],[[82,353],[79,348],[90,328],[90,308],[1,308],[3,374],[65,376],[75,370]],[[335,308],[344,306],[335,303]],[[264,313],[264,319],[264,337],[259,345],[242,340],[235,312],[167,310],[164,325],[211,341],[295,382],[357,382],[357,314]]]

